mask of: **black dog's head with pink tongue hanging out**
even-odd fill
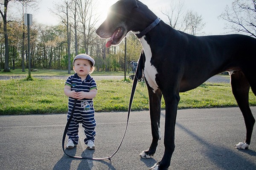
[[[148,11],[148,7],[138,0],[119,0],[110,7],[108,17],[96,33],[101,38],[110,38],[106,47],[117,45],[129,31],[142,31],[148,26],[146,21],[151,16]]]

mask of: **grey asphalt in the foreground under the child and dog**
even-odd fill
[[[256,107],[251,107],[256,117]],[[163,134],[164,116],[161,116]],[[96,113],[96,150],[86,150],[83,130],[80,143],[68,150],[76,156],[107,157],[118,147],[127,113]],[[127,135],[112,163],[65,156],[61,140],[65,114],[0,116],[1,170],[148,170],[163,156],[163,139],[151,159],[139,154],[151,143],[148,111],[132,112]],[[178,110],[175,152],[170,170],[256,170],[256,128],[248,150],[237,150],[245,126],[239,108]]]

